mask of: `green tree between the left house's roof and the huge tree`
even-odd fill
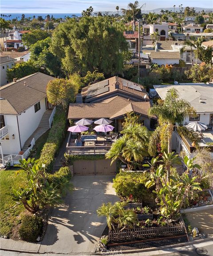
[[[30,47],[30,60],[41,72],[52,76],[60,76],[60,62],[58,58],[50,52],[50,44],[50,37],[32,44]]]

